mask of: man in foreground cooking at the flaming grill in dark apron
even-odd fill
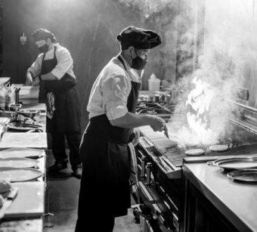
[[[115,217],[130,207],[130,153],[127,144],[135,127],[149,125],[163,131],[165,121],[136,115],[141,79],[138,72],[150,49],[161,44],[151,30],[127,27],[117,36],[121,51],[104,67],[92,86],[87,110],[89,124],[80,144],[82,180],[75,231],[113,231]]]

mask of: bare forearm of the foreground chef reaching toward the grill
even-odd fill
[[[150,115],[136,115],[132,112],[127,112],[123,117],[110,120],[110,122],[115,127],[134,128],[149,125],[152,120]]]

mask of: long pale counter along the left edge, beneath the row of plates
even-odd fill
[[[45,104],[35,101],[23,102],[22,109],[40,110],[40,115],[35,117],[36,121],[41,121],[43,127],[46,122]],[[44,129],[45,131],[45,129]],[[44,214],[44,195],[46,191],[46,153],[47,140],[46,133],[24,133],[7,131],[1,138],[0,150],[5,148],[39,148],[42,149],[43,156],[39,159],[39,170],[43,176],[37,181],[16,182],[12,185],[18,187],[18,195],[6,210],[6,217],[2,219],[0,231],[14,232],[42,232]],[[28,202],[29,201],[29,202]]]

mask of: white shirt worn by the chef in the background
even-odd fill
[[[32,63],[31,67],[29,67],[28,71],[32,72],[33,77],[40,75],[43,56],[44,60],[53,59],[54,47],[56,47],[57,65],[53,70],[51,70],[51,74],[58,79],[61,79],[65,75],[65,73],[67,73],[68,75],[76,79],[73,72],[73,58],[70,56],[70,52],[68,51],[68,49],[65,49],[65,47],[61,46],[58,43],[54,44],[53,48],[46,52],[46,56],[44,56],[44,53],[40,53],[39,56],[37,56],[35,62]]]

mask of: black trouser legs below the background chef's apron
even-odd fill
[[[81,166],[80,161],[80,132],[51,133],[52,151],[58,163],[68,163],[68,155],[65,152],[65,138],[70,149],[70,165],[73,171]]]

